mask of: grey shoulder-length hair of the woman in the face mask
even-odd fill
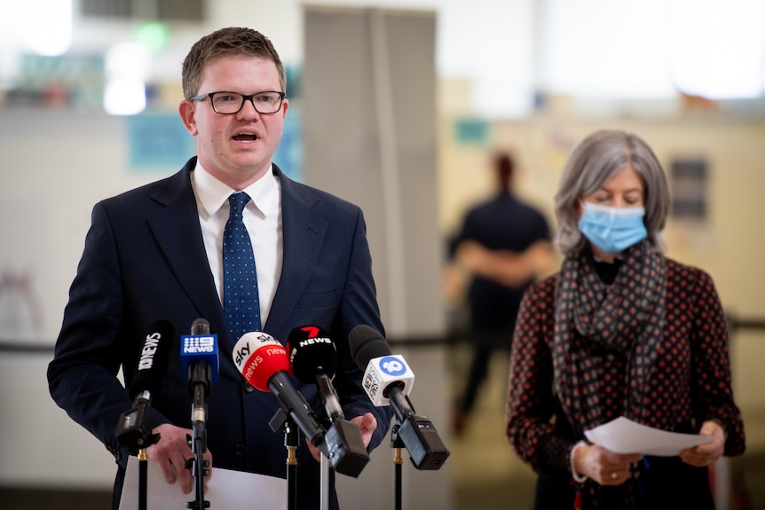
[[[659,252],[665,251],[661,231],[669,214],[669,186],[656,154],[641,137],[626,131],[595,131],[574,147],[556,192],[556,246],[570,255],[588,246],[579,230],[580,200],[597,191],[619,170],[631,167],[645,186],[643,223]]]

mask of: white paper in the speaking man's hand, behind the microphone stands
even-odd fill
[[[146,462],[147,510],[178,510],[187,501],[196,498],[194,490],[184,494],[178,483],[166,483],[160,468],[149,460]],[[286,508],[287,480],[275,476],[255,475],[214,467],[208,482],[205,500],[215,510],[241,510],[242,508]],[[138,459],[128,459],[125,484],[122,487],[120,510],[138,508]]]

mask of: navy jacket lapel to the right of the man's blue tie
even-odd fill
[[[273,165],[281,183],[281,224],[283,259],[281,276],[271,311],[264,325],[266,333],[278,335],[300,300],[319,257],[329,223],[312,212],[317,199]],[[287,332],[288,333],[288,332]],[[279,337],[275,337],[279,340]],[[286,337],[281,339],[286,341]]]

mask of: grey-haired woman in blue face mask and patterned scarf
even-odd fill
[[[745,449],[722,305],[706,272],[664,255],[669,192],[651,148],[586,137],[556,193],[560,271],[524,294],[507,435],[539,475],[535,508],[708,508],[708,467]],[[710,435],[673,457],[620,454],[585,432],[621,416]]]

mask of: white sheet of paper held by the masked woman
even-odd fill
[[[646,427],[624,416],[586,431],[590,443],[616,453],[673,457],[686,448],[709,443],[722,435],[682,434]]]

